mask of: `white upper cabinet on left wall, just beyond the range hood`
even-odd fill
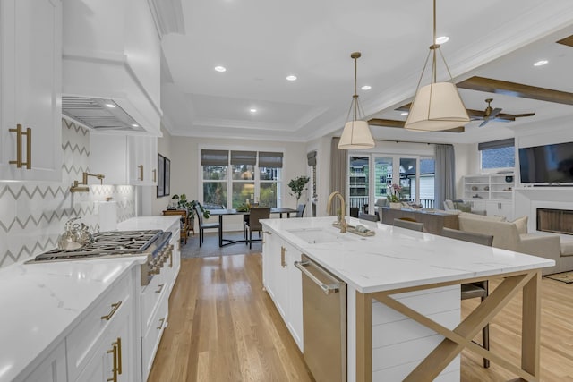
[[[157,185],[157,137],[90,134],[90,172],[104,184]]]

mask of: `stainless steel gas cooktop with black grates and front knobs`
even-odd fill
[[[147,255],[147,261],[141,264],[141,285],[147,285],[173,256],[173,245],[169,244],[170,238],[171,232],[161,230],[94,233],[93,241],[77,250],[48,250],[26,263]]]

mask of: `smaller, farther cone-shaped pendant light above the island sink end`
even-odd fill
[[[358,94],[356,92],[356,62],[360,56],[360,52],[354,52],[350,55],[355,60],[355,95],[352,96],[350,110],[348,110],[348,115],[346,116],[346,121],[348,122],[344,125],[342,136],[338,142],[338,149],[372,149],[374,147],[374,140],[372,139],[368,123],[360,120],[363,110],[358,104]]]

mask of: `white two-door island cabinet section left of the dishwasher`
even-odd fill
[[[267,231],[263,232],[263,284],[275,302],[286,327],[303,351],[303,284],[295,267],[301,252]]]

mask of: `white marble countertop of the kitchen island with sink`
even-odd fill
[[[419,233],[392,225],[362,222],[348,216],[348,224],[368,225],[376,234],[362,237],[354,233],[339,233],[338,228],[331,225],[335,220],[336,217],[329,216],[267,219],[261,222],[265,230],[277,233],[361,293],[480,276],[500,276],[509,272],[555,265],[552,259],[462,242],[431,233]],[[338,239],[334,242],[319,240],[318,243],[311,244],[302,239],[304,233],[297,233],[315,231],[316,237],[320,238],[321,230],[326,230],[330,237],[333,234],[338,235]],[[306,235],[309,236],[308,233]]]

